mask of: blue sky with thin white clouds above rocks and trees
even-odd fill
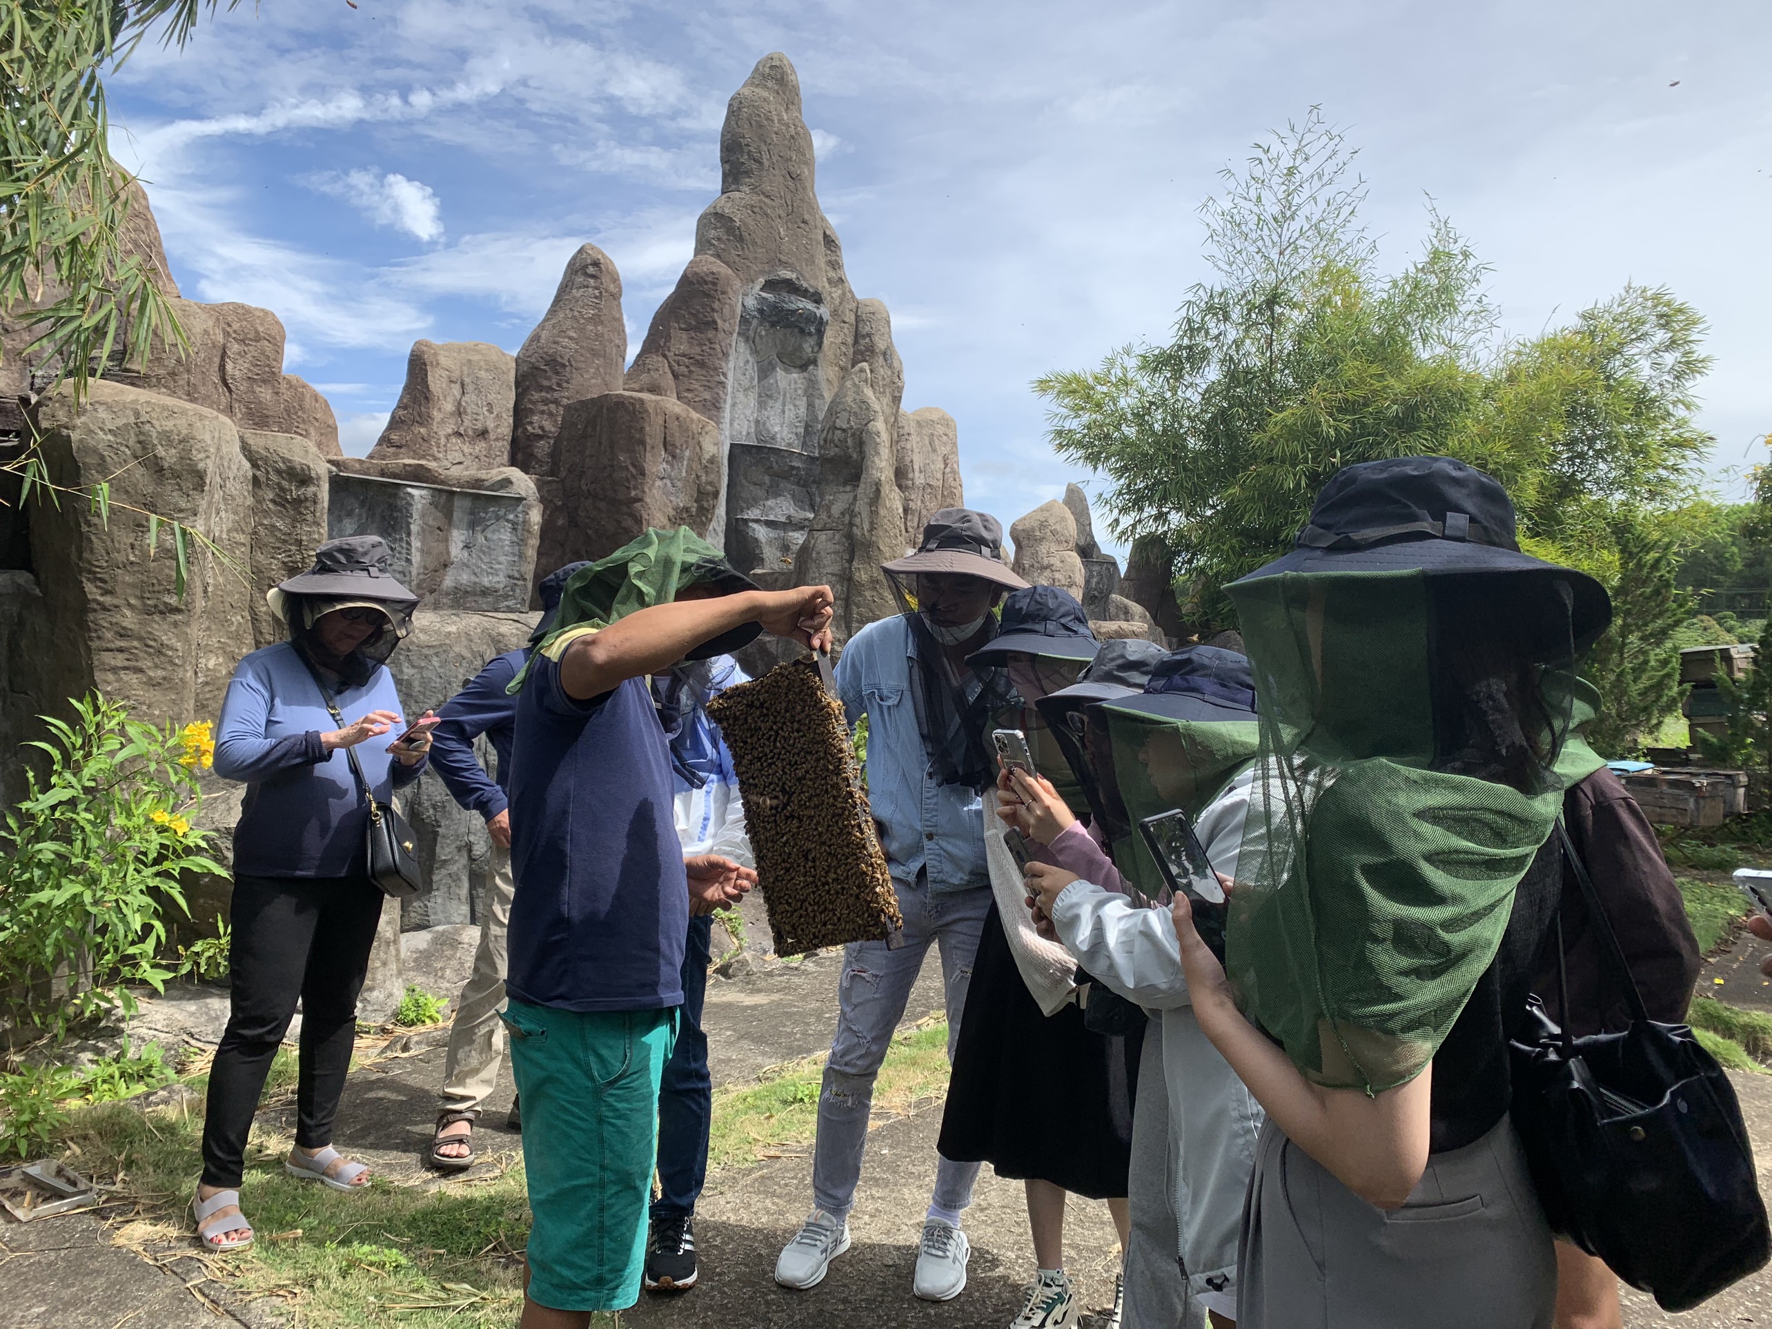
[[[1311,105],[1400,264],[1425,198],[1531,335],[1627,280],[1710,321],[1712,471],[1772,429],[1772,5],[1565,0],[746,4],[262,0],[112,83],[186,296],[266,305],[365,452],[418,337],[516,351],[583,241],[629,354],[718,193],[727,97],[799,69],[819,195],[893,314],[905,409],[1005,525],[1086,478],[1028,383],[1161,338],[1200,200]]]

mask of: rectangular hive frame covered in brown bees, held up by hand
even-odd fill
[[[842,703],[810,657],[707,705],[732,750],[776,955],[882,941],[904,927]]]

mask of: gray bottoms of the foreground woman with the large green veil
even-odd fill
[[[1550,1329],[1556,1253],[1513,1123],[1434,1154],[1386,1214],[1262,1127],[1237,1329]]]

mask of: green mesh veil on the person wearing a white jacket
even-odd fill
[[[1200,817],[1232,778],[1255,760],[1260,727],[1246,719],[1205,719],[1146,709],[1159,702],[1212,714],[1219,707],[1177,693],[1097,702],[1084,711],[1084,746],[1102,785],[1099,826],[1115,867],[1139,904],[1157,898],[1166,881],[1150,856],[1138,822],[1180,808]],[[1194,703],[1194,705],[1187,705]],[[1223,711],[1228,711],[1224,707]]]

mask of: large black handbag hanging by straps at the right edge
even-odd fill
[[[1772,1255],[1747,1127],[1735,1086],[1690,1026],[1648,1017],[1561,822],[1558,835],[1600,952],[1630,999],[1630,1026],[1572,1038],[1533,996],[1527,1028],[1510,1045],[1513,1125],[1550,1230],[1662,1310],[1690,1310]],[[1556,944],[1566,1019],[1561,914]]]

